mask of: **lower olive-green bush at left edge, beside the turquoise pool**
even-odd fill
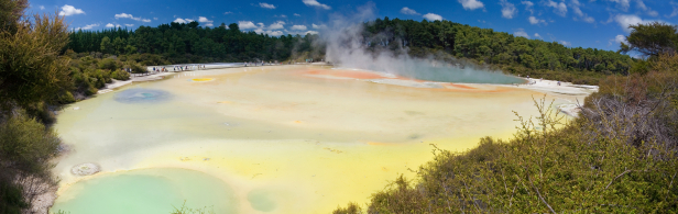
[[[51,160],[56,133],[18,111],[0,122],[0,213],[22,213],[36,194],[55,184]]]

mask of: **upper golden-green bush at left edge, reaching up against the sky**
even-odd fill
[[[2,0],[0,4],[15,2]],[[23,9],[22,9],[23,10]],[[34,15],[15,23],[15,31],[0,31],[0,111],[52,101],[68,85],[67,58],[61,57],[68,44],[63,18]]]

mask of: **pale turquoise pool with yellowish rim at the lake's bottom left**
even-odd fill
[[[184,204],[214,213],[236,213],[233,191],[221,180],[186,169],[140,169],[75,183],[52,212],[70,214],[171,213]]]

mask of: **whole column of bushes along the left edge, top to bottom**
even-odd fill
[[[46,212],[37,196],[56,187],[56,133],[41,122],[70,83],[63,18],[26,15],[26,0],[0,0],[0,213]],[[37,120],[36,120],[37,119]]]

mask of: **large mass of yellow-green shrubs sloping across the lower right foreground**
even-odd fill
[[[536,121],[518,116],[508,142],[486,137],[464,153],[434,145],[418,182],[397,178],[372,194],[368,213],[678,213],[676,109],[597,103],[556,128],[542,100]],[[657,116],[642,117],[647,110]]]

